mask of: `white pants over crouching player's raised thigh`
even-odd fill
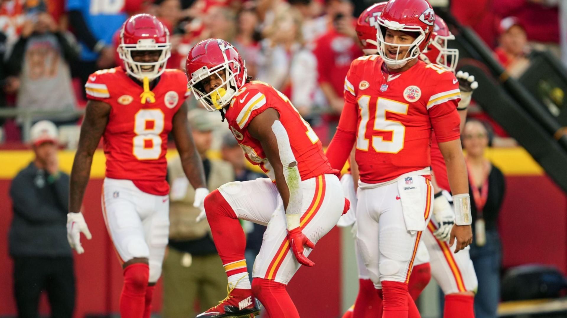
[[[238,218],[260,225],[268,224],[280,196],[276,184],[269,178],[225,183],[218,191]]]

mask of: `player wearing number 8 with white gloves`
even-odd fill
[[[126,20],[120,37],[124,66],[95,72],[85,85],[89,101],[71,171],[67,237],[78,253],[80,232],[90,239],[81,203],[102,136],[104,221],[124,269],[120,316],[140,318],[150,317],[168,239],[170,131],[196,188],[196,206],[204,209],[209,191],[187,123],[187,78],[165,68],[171,50],[167,28],[155,16],[139,14]]]

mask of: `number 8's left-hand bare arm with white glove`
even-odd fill
[[[100,137],[102,137],[107,126],[110,110],[111,106],[105,102],[88,101],[81,125],[79,146],[71,169],[67,239],[71,247],[77,250],[79,254],[84,252],[79,232],[82,232],[87,239],[91,239],[91,233],[88,231],[81,213],[84,190],[91,175],[92,156],[94,156],[96,146],[98,146]]]

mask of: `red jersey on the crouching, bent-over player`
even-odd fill
[[[252,119],[268,108],[273,108],[280,114],[280,122],[289,136],[291,150],[297,160],[302,180],[327,173],[339,174],[338,170],[333,170],[329,165],[319,137],[291,105],[289,99],[261,81],[245,84],[226,109],[229,128],[248,161],[259,166],[272,181],[276,179],[260,141],[252,137],[247,129]]]

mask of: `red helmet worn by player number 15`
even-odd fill
[[[378,53],[386,65],[391,68],[400,68],[408,61],[417,58],[429,44],[433,34],[435,12],[426,0],[390,0],[386,3],[382,14],[378,16]],[[384,41],[386,30],[414,32],[418,36],[412,44],[393,44]],[[385,45],[397,46],[396,59],[386,55]],[[400,48],[408,48],[404,57],[400,58]]]

